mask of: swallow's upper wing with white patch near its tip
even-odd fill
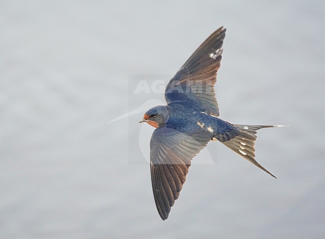
[[[224,36],[222,27],[214,31],[177,71],[165,89],[167,104],[188,101],[197,110],[219,116],[214,83]]]

